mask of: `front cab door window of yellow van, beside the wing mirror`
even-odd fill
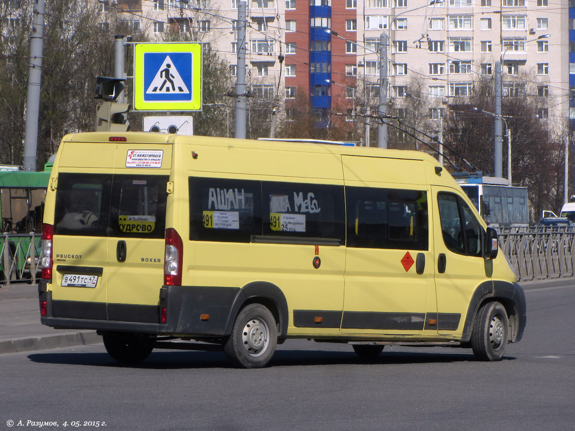
[[[438,203],[446,247],[458,255],[481,256],[483,229],[469,206],[448,193],[439,193]]]

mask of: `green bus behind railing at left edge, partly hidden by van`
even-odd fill
[[[46,188],[53,158],[42,172],[0,165],[0,284],[35,283]]]

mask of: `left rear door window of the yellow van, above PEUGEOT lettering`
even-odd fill
[[[111,188],[112,175],[60,173],[54,233],[107,236]]]

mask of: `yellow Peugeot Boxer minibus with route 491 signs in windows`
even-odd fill
[[[287,338],[495,361],[526,325],[498,252],[425,153],[70,134],[45,203],[41,322],[97,330],[127,363],[174,347],[263,367]]]

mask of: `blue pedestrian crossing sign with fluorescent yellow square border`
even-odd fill
[[[136,44],[133,94],[137,110],[201,110],[201,44]]]

